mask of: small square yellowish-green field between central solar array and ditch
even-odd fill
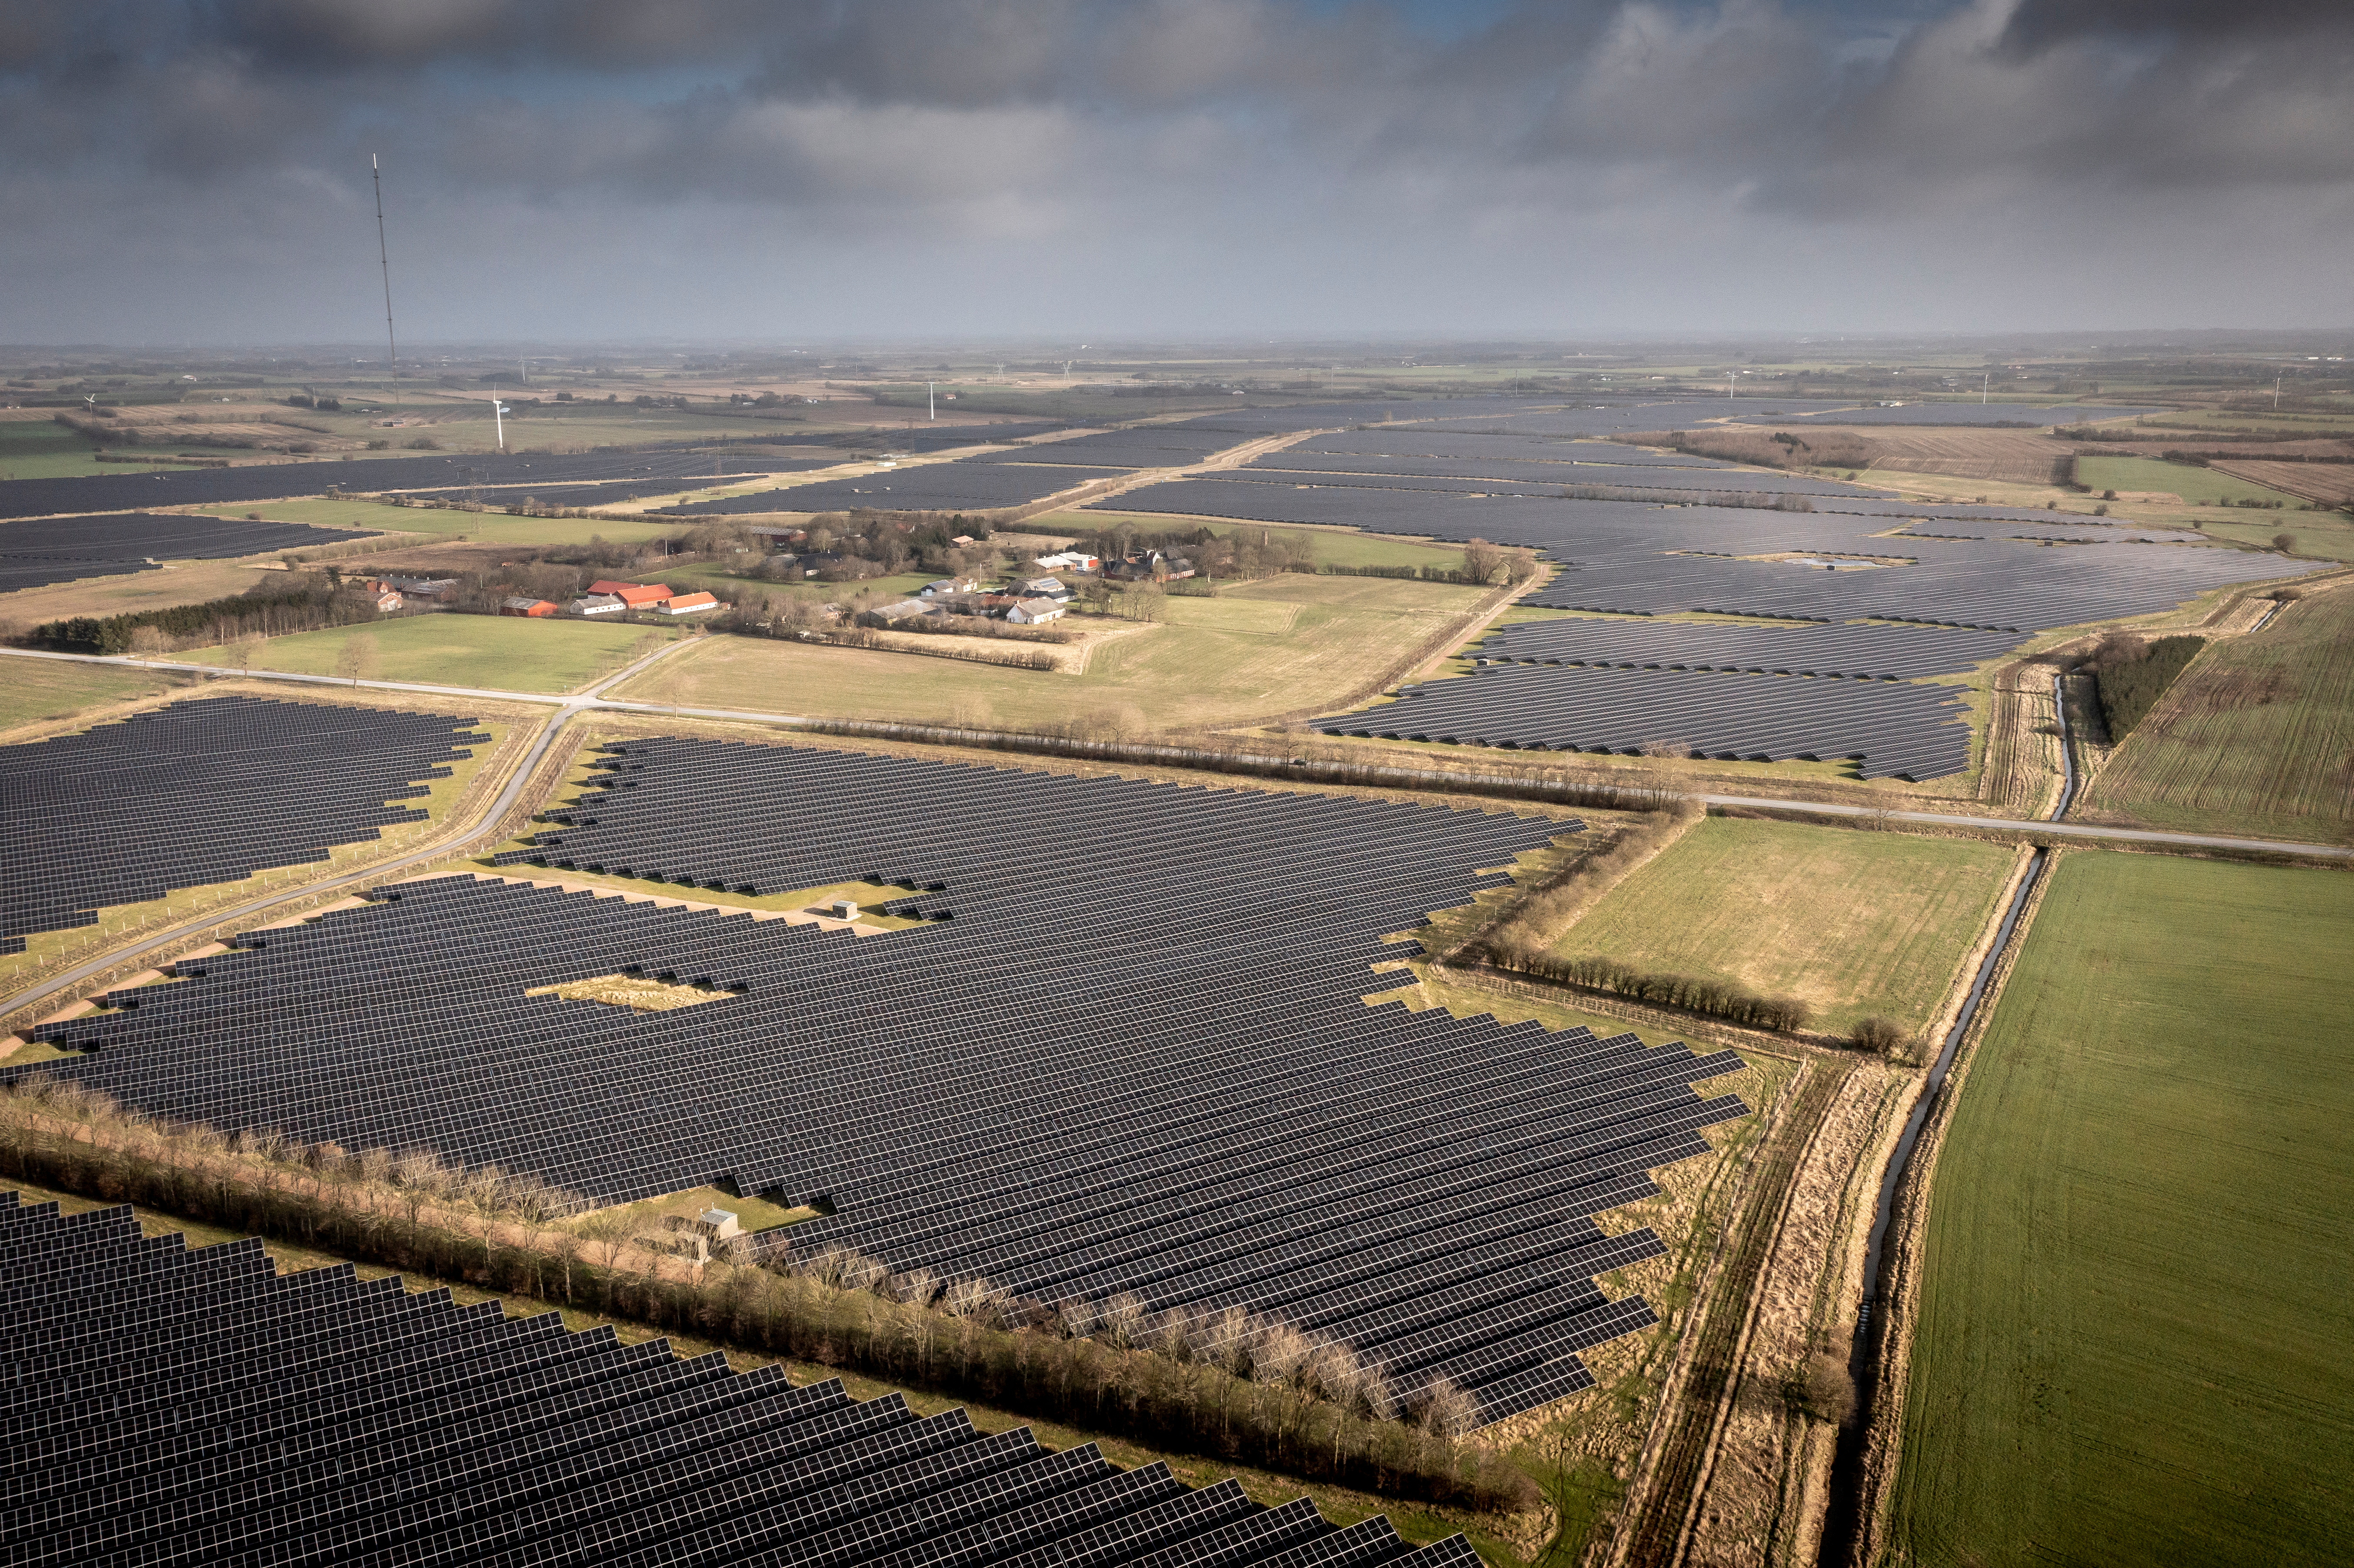
[[[1994,916],[2013,850],[1968,838],[1709,817],[1638,866],[1554,951],[1730,979],[1843,1034],[1923,1029]]]

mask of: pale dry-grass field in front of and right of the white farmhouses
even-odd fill
[[[829,718],[1238,725],[1346,699],[1478,598],[1478,589],[1448,584],[1290,572],[1222,589],[1217,598],[1170,596],[1165,624],[1132,626],[1097,645],[1085,673],[711,638],[614,695]]]

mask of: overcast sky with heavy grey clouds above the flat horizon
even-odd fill
[[[2354,325],[2347,0],[0,0],[0,341]]]

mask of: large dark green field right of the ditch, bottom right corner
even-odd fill
[[[2072,852],[1937,1156],[1886,1561],[2342,1563],[2354,876]]]

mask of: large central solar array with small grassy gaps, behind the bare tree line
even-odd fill
[[[1017,1297],[1241,1304],[1497,1420],[1653,1323],[1594,1215],[1742,1116],[1730,1052],[1363,996],[1563,822],[1306,793],[650,739],[506,859],[782,892],[906,888],[885,937],[440,878],[257,937],[38,1038],[129,1104],[346,1149],[428,1144],[603,1201],[730,1177],[793,1231]],[[687,892],[692,897],[692,892]],[[725,1001],[527,989],[612,972]]]

